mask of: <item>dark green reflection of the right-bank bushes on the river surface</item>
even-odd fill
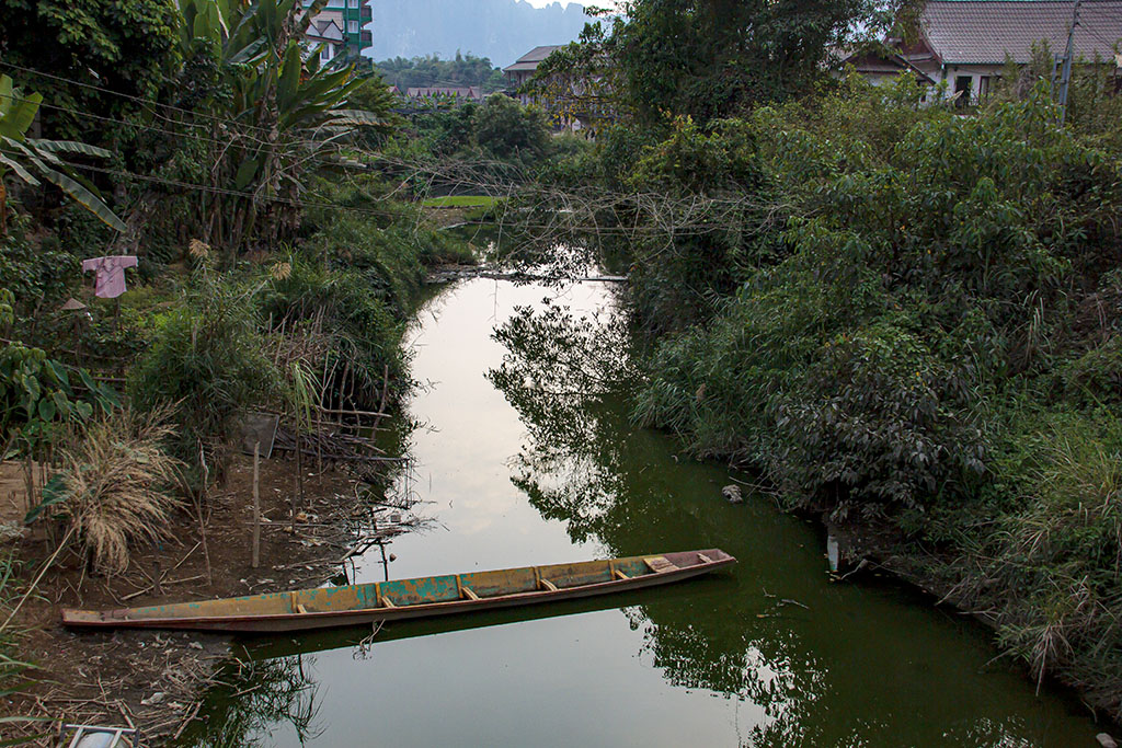
[[[885,647],[891,652],[893,645],[902,658],[914,657],[901,640],[907,631],[893,621],[858,626],[849,634],[844,626],[831,630],[835,621],[865,612],[875,619],[876,612],[862,610],[868,602],[862,598],[868,595],[850,590],[856,594],[844,599],[826,582],[824,567],[815,567],[812,552],[782,542],[776,547],[775,538],[762,547],[746,545],[761,539],[761,528],[747,527],[753,518],[746,523],[745,512],[730,514],[735,508],[719,504],[719,472],[679,462],[669,440],[632,425],[625,397],[635,375],[620,318],[581,318],[550,306],[523,308],[495,338],[506,353],[488,378],[527,431],[512,460],[512,481],[543,517],[563,521],[573,541],[594,539],[609,555],[724,547],[741,558],[737,579],[758,580],[758,587],[734,585],[719,594],[698,590],[689,604],[668,600],[625,610],[632,628],[643,634],[644,655],[670,684],[760,710],[739,742],[1018,746],[1050,745],[1063,733],[1055,722],[1065,720],[1064,710],[1055,703],[1037,723],[1017,713],[1031,709],[1023,702],[1006,719],[992,719],[987,712],[1009,705],[1002,696],[959,711],[945,709],[946,702],[959,701],[957,689],[988,696],[995,683],[1015,682],[1024,695],[1017,674],[987,683],[981,672],[956,676],[895,663],[891,656],[885,662]],[[691,479],[703,482],[683,484]],[[776,526],[770,519],[766,524],[785,541],[815,539],[793,533],[790,523]],[[818,609],[798,600],[776,606],[781,595],[769,592],[767,584],[774,592],[806,595]],[[839,607],[824,609],[831,603]],[[911,612],[922,617],[920,609]],[[946,646],[947,638],[958,637],[984,648],[980,631],[958,627],[938,634],[942,636],[928,644]],[[960,655],[954,661],[968,662]],[[929,690],[942,693],[926,698]],[[1064,742],[1060,738],[1056,745]]]

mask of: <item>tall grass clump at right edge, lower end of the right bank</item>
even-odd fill
[[[1022,455],[1024,504],[1000,519],[976,591],[1038,683],[1064,671],[1122,707],[1122,432],[1054,418]]]

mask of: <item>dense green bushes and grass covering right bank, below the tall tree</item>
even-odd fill
[[[1040,86],[963,118],[907,80],[679,121],[634,188],[783,218],[632,244],[660,333],[636,414],[895,527],[899,557],[922,539],[920,572],[1037,674],[1118,708],[1122,167],[1116,123],[1057,121]]]

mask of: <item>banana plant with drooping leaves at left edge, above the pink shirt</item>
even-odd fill
[[[27,131],[35,121],[43,102],[43,94],[20,95],[7,75],[0,75],[0,236],[7,233],[8,206],[4,178],[15,174],[26,184],[38,186],[40,179],[54,184],[77,201],[101,221],[125,231],[125,223],[94,193],[93,187],[82,184],[61,154],[76,154],[109,158],[103,148],[73,140],[43,140],[28,138]]]

